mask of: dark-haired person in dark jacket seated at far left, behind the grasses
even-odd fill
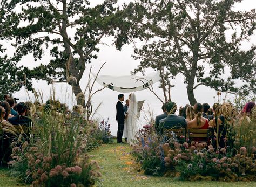
[[[13,125],[29,126],[31,124],[31,120],[29,117],[25,116],[27,108],[28,107],[24,102],[18,103],[17,105],[18,115],[8,119],[9,123]]]

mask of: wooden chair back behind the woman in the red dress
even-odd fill
[[[191,141],[207,142],[209,129],[187,129],[187,136]]]

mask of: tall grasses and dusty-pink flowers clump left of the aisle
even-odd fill
[[[22,133],[12,143],[12,175],[32,186],[92,186],[100,173],[86,154],[90,125],[54,110],[42,111],[30,134]]]

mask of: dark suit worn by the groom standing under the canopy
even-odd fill
[[[118,123],[117,142],[122,142],[125,115],[124,115],[124,107],[121,101],[117,102],[116,109],[117,109],[116,120]]]

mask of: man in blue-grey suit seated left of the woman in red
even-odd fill
[[[186,128],[187,122],[184,117],[175,115],[177,106],[175,102],[169,102],[166,104],[166,110],[168,116],[159,121],[159,132],[163,134],[163,129],[172,129],[172,128]]]

